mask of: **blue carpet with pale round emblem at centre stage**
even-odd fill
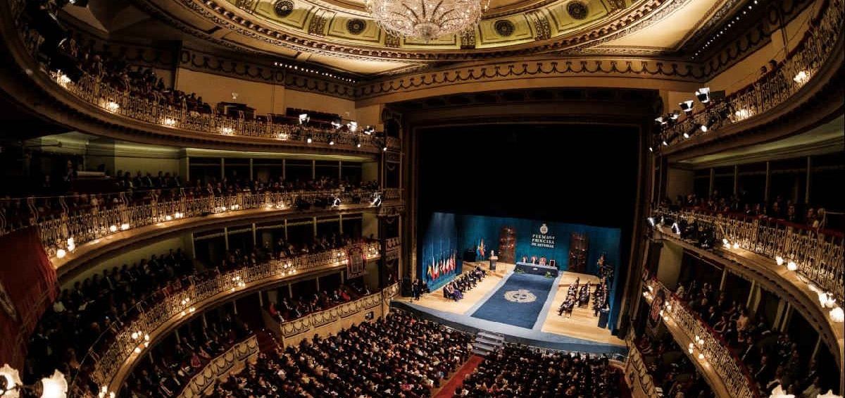
[[[472,317],[532,329],[554,281],[542,275],[511,274]]]

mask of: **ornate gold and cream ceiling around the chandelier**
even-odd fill
[[[477,29],[431,42],[385,34],[363,0],[128,0],[109,24],[97,10],[123,2],[91,0],[91,11],[72,12],[101,30],[163,30],[168,39],[373,75],[541,53],[673,56],[717,11],[739,1],[492,0]]]

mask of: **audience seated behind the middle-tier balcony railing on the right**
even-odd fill
[[[803,224],[815,230],[830,227],[825,208],[810,204],[797,204],[792,200],[784,200],[781,195],[777,195],[771,203],[751,203],[744,199],[743,195],[725,196],[718,191],[714,191],[710,198],[700,198],[695,194],[688,194],[685,197],[679,195],[674,203],[667,198],[663,199],[662,204],[665,206],[678,205],[689,210],[706,210],[746,215],[763,220],[787,221],[793,224]],[[805,210],[802,211],[802,208]]]

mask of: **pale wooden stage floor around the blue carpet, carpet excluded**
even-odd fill
[[[482,265],[484,270],[488,268],[487,263],[465,262],[464,270],[472,270],[476,264]],[[581,278],[581,283],[589,281],[596,284],[598,278],[595,275],[561,272],[555,281],[557,285],[552,286],[552,292],[548,293],[546,299],[547,303],[537,315],[537,321],[533,327],[526,328],[472,317],[472,314],[476,313],[478,308],[481,308],[493,293],[504,285],[507,278],[513,273],[515,265],[499,263],[496,268],[495,273],[489,273],[477,286],[464,293],[464,298],[457,303],[444,298],[441,290],[425,294],[416,302],[408,297],[397,297],[395,301],[406,303],[409,308],[429,313],[434,317],[449,320],[453,323],[466,324],[476,329],[529,339],[535,341],[535,345],[537,341],[546,341],[548,344],[542,346],[559,347],[573,351],[622,352],[620,348],[624,350],[623,340],[611,335],[610,330],[597,326],[598,318],[593,316],[592,303],[586,308],[575,307],[571,318],[558,315],[557,310],[563,303],[570,284],[576,278]],[[542,278],[542,276],[538,277]],[[560,344],[567,348],[560,347]]]

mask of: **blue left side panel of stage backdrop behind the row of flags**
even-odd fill
[[[428,289],[433,292],[461,273],[455,215],[434,213],[422,242],[418,276],[428,283]]]

